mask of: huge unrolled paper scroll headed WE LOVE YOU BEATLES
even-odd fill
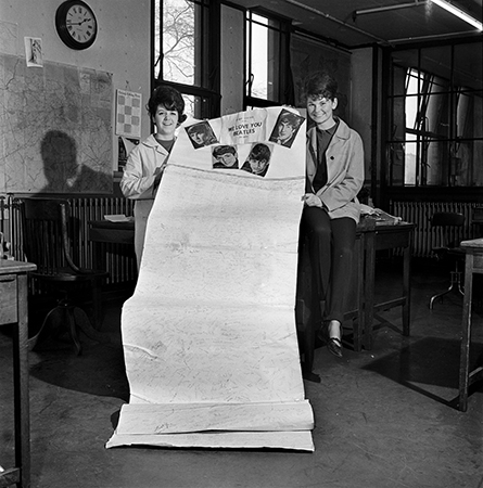
[[[107,447],[314,450],[294,321],[305,130],[270,144],[283,111],[181,129],[123,308],[130,401]],[[264,176],[242,169],[259,142]],[[231,168],[217,166],[221,145],[236,149]]]

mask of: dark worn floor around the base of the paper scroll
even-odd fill
[[[378,294],[396,283],[398,262],[378,265]],[[105,449],[127,400],[120,348],[122,301],[106,304],[112,345],[82,337],[30,352],[34,488],[481,488],[483,388],[466,413],[454,408],[461,298],[428,301],[446,286],[433,267],[414,266],[412,331],[385,312],[370,351],[342,360],[317,350],[321,383],[306,383],[316,415],[314,453],[260,450]],[[473,313],[473,359],[482,357],[481,313]],[[13,461],[11,337],[0,329],[0,464]]]

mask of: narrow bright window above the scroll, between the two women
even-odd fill
[[[246,11],[245,106],[293,103],[290,84],[290,22]]]

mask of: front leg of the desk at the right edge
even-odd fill
[[[466,412],[468,408],[472,298],[473,298],[473,253],[467,251],[465,261],[465,297],[462,305],[461,349],[459,362],[458,409],[461,412]]]

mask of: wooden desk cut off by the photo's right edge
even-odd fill
[[[473,300],[473,274],[483,274],[483,239],[462,241],[465,257],[465,297],[461,320],[461,346],[459,361],[459,399],[458,409],[468,409],[468,389],[474,382],[483,378],[483,367],[470,371],[471,345],[471,308]]]

